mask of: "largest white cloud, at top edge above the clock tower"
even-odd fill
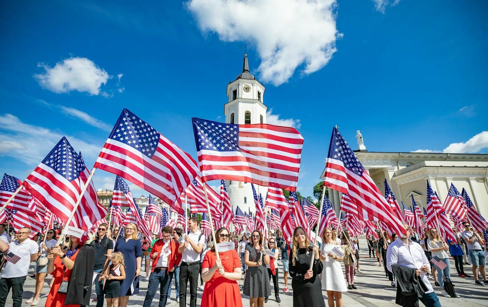
[[[222,41],[256,45],[258,72],[278,86],[297,68],[313,73],[327,64],[342,37],[336,29],[335,0],[190,0],[186,2],[203,32]]]

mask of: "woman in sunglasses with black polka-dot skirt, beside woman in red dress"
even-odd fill
[[[261,245],[262,234],[259,230],[251,233],[251,244],[245,247],[244,263],[247,271],[244,279],[243,294],[249,296],[250,307],[263,307],[264,298],[271,295],[269,275],[266,267],[269,256],[264,255]]]

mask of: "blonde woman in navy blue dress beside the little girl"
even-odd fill
[[[125,259],[125,279],[121,284],[120,307],[127,307],[129,295],[139,294],[139,272],[141,270],[142,246],[137,238],[136,225],[125,226],[124,238],[117,240],[114,252],[120,251]],[[134,279],[135,278],[135,279]],[[131,285],[134,291],[131,291]]]

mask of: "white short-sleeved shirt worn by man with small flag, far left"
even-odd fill
[[[19,244],[19,241],[10,243],[8,253],[13,253],[20,257],[20,260],[13,264],[10,261],[5,261],[5,268],[1,272],[2,278],[14,278],[27,275],[30,266],[30,257],[39,252],[39,246],[31,239],[26,239]]]

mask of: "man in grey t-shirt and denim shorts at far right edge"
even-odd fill
[[[483,283],[488,285],[485,271],[486,258],[481,248],[482,245],[485,245],[485,240],[476,231],[471,230],[471,225],[468,222],[464,222],[463,227],[465,230],[461,233],[461,237],[466,242],[466,246],[468,246],[468,257],[470,257],[473,265],[474,283],[478,286],[485,286]],[[478,280],[478,267],[483,277],[483,283]]]

